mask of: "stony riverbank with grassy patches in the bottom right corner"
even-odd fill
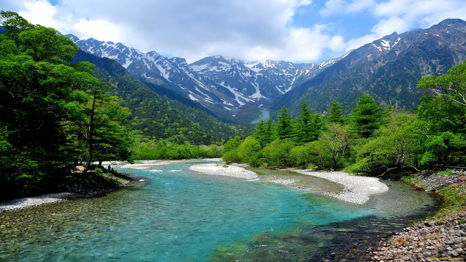
[[[368,250],[371,259],[384,262],[466,259],[466,176],[418,172],[403,179],[420,190],[436,189],[443,200],[442,208]],[[451,181],[454,183],[447,185]]]

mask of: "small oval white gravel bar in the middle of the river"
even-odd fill
[[[258,179],[259,176],[253,172],[235,165],[223,165],[218,163],[209,163],[201,165],[192,165],[190,170],[201,172],[207,175],[228,176],[241,179]]]

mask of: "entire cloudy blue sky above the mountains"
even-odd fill
[[[466,20],[465,0],[3,0],[32,23],[194,62],[320,62],[396,31]]]

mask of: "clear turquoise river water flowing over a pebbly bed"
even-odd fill
[[[202,175],[188,169],[193,164],[120,169],[146,181],[1,213],[0,260],[303,261],[351,241],[348,232],[403,226],[400,208],[435,204],[399,182],[388,181],[397,189],[358,206],[260,180]]]

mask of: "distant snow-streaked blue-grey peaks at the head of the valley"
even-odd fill
[[[245,62],[221,55],[187,64],[184,58],[167,58],[155,51],[142,53],[122,43],[66,36],[81,50],[113,59],[133,76],[163,85],[230,118],[236,118],[250,104],[274,100],[349,54],[317,64]]]

